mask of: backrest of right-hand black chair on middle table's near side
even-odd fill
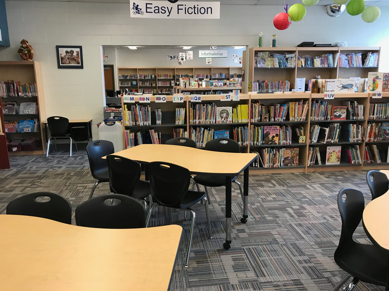
[[[189,170],[168,162],[150,162],[146,168],[153,201],[163,206],[180,208],[190,184]]]

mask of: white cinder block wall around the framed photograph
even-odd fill
[[[237,1],[238,2],[238,1]],[[0,60],[21,60],[19,42],[25,38],[33,46],[42,66],[47,115],[102,121],[104,82],[102,45],[271,45],[277,33],[278,46],[296,46],[302,41],[349,46],[381,46],[381,70],[389,70],[389,30],[385,19],[389,7],[373,24],[360,16],[329,17],[323,6],[307,7],[307,16],[285,31],[277,31],[272,19],[283,6],[221,5],[220,19],[139,19],[130,18],[130,5],[59,1],[6,1],[10,48],[0,48]],[[58,69],[55,46],[81,45],[84,69]],[[116,56],[115,56],[116,57]],[[118,64],[120,65],[120,64]],[[93,126],[97,139],[97,127]]]

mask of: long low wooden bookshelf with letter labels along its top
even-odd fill
[[[351,170],[371,170],[371,169],[389,169],[389,163],[386,162],[385,156],[388,152],[389,140],[375,141],[375,142],[367,142],[366,139],[362,141],[347,141],[347,133],[343,129],[347,129],[349,125],[360,125],[362,128],[366,130],[369,123],[389,123],[389,118],[386,119],[373,119],[370,118],[371,115],[370,105],[376,103],[389,103],[389,93],[383,93],[383,97],[380,99],[373,98],[370,93],[339,93],[335,94],[334,99],[324,99],[324,94],[311,94],[311,93],[282,93],[282,94],[241,94],[240,101],[221,101],[220,95],[203,95],[201,103],[192,102],[190,96],[183,96],[183,103],[173,103],[173,96],[167,96],[166,103],[156,103],[155,97],[152,96],[150,103],[139,103],[139,96],[135,96],[135,103],[122,103],[123,111],[125,104],[138,104],[138,105],[149,105],[151,108],[151,125],[149,126],[125,126],[124,130],[129,130],[132,132],[138,132],[141,130],[149,130],[154,129],[158,132],[161,132],[161,143],[163,144],[166,140],[173,137],[174,129],[183,129],[187,131],[187,136],[191,137],[192,129],[197,128],[207,128],[207,129],[227,129],[230,133],[230,138],[236,140],[236,137],[233,134],[233,130],[236,128],[247,128],[247,145],[240,146],[241,152],[259,152],[263,148],[299,148],[299,162],[297,166],[281,166],[279,168],[263,168],[260,166],[259,168],[251,167],[250,173],[252,174],[267,174],[267,173],[288,173],[288,172],[324,172],[324,171],[351,171]],[[123,98],[122,98],[123,99]],[[311,120],[310,116],[313,114],[312,110],[312,102],[316,101],[326,101],[328,104],[333,106],[343,105],[345,101],[356,101],[359,105],[364,105],[364,117],[360,119],[346,119],[346,120]],[[284,121],[252,121],[250,116],[250,108],[255,103],[260,103],[260,105],[274,105],[274,104],[283,104],[289,102],[299,102],[301,101],[303,104],[307,104],[307,114],[305,120],[294,120],[291,121],[289,117],[287,117]],[[190,110],[191,106],[195,104],[215,104],[216,106],[228,106],[235,107],[237,105],[248,105],[248,121],[247,122],[239,122],[239,123],[230,123],[230,124],[207,124],[207,123],[194,123],[190,122]],[[175,116],[175,109],[177,107],[185,108],[185,122],[181,125],[175,125],[173,120]],[[157,125],[155,122],[155,109],[160,108],[162,111],[162,125]],[[290,108],[289,108],[290,110]],[[165,114],[164,114],[165,113]],[[154,115],[154,117],[153,117]],[[165,117],[164,117],[165,116]],[[289,116],[289,115],[288,115]],[[388,116],[389,117],[389,116]],[[341,127],[340,136],[338,142],[334,143],[311,143],[309,139],[309,132],[311,126],[320,125],[323,127],[327,127],[331,123],[338,123]],[[296,136],[292,133],[292,142],[289,145],[253,145],[251,143],[251,127],[261,127],[261,126],[290,126],[293,130],[294,127],[301,126],[304,129],[304,133],[306,136],[306,140],[303,143],[299,143]],[[124,132],[125,134],[125,132]],[[383,153],[381,159],[381,163],[364,163],[364,149],[365,146],[375,145]],[[326,156],[326,147],[327,146],[357,146],[359,148],[361,154],[361,164],[352,164],[344,159],[344,153],[341,153],[341,162],[339,164],[325,164],[325,156]],[[202,147],[202,146],[198,146]],[[310,147],[318,147],[319,155],[321,157],[322,164],[319,165],[316,161],[314,164],[309,164],[309,151]]]

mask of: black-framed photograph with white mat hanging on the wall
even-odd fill
[[[81,46],[55,46],[57,51],[57,64],[59,69],[82,69]]]

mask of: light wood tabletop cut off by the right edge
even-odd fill
[[[389,250],[389,192],[371,200],[363,210],[363,226],[371,238]]]

